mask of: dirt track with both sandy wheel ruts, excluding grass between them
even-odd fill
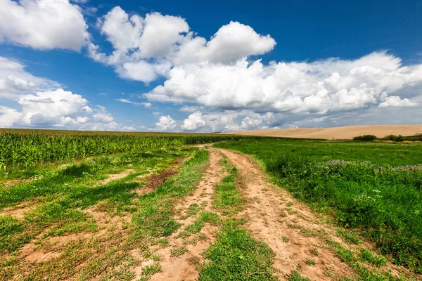
[[[181,215],[177,221],[182,227],[170,237],[170,247],[156,249],[161,272],[154,274],[151,280],[197,280],[200,264],[203,263],[201,253],[215,241],[218,229],[205,226],[200,234],[206,239],[195,243],[186,243],[180,233],[198,218],[198,214],[184,216],[192,204],[202,205],[206,211],[215,211],[212,209],[214,186],[226,175],[220,162],[222,155],[236,166],[243,177],[244,186],[239,190],[245,200],[245,209],[236,216],[245,216],[248,221],[245,227],[250,234],[276,253],[273,266],[280,280],[288,280],[293,270],[298,270],[309,280],[338,280],[355,276],[354,270],[340,261],[326,244],[327,240],[331,240],[345,248],[352,247],[335,236],[333,227],[321,223],[309,207],[295,200],[286,190],[266,181],[266,176],[250,157],[231,150],[206,149],[210,151],[210,165],[193,195],[177,206]],[[174,256],[172,251],[183,244],[186,245],[185,251]]]

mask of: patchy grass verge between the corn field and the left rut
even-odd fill
[[[191,156],[181,166],[180,173],[167,178],[158,189],[146,195],[136,195],[142,188],[136,176],[166,169],[174,158]],[[174,203],[196,188],[207,166],[208,154],[197,148],[167,148],[148,153],[127,153],[94,157],[83,163],[59,167],[30,183],[20,183],[1,189],[1,207],[15,206],[22,200],[34,204],[23,218],[0,216],[0,279],[10,280],[18,273],[23,279],[52,280],[76,276],[79,280],[132,280],[136,261],[132,249],[151,256],[148,244],[165,244],[179,224],[172,219]],[[133,174],[106,184],[100,182],[107,174],[133,169]],[[100,183],[100,184],[98,184]],[[26,192],[25,192],[26,190]],[[87,209],[103,211],[110,226],[98,225]],[[113,220],[132,216],[119,230]],[[211,219],[212,216],[206,216]],[[106,221],[107,223],[107,221]],[[106,233],[94,235],[101,228]],[[89,239],[79,238],[66,244],[52,244],[49,237],[72,233],[92,233]],[[56,251],[57,258],[43,263],[26,264],[16,259],[18,249],[39,235],[41,251]],[[84,266],[79,267],[79,265]],[[144,268],[145,280],[160,270],[158,263]]]

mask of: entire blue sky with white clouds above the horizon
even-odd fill
[[[0,127],[422,124],[422,1],[0,0]]]

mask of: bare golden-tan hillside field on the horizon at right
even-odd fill
[[[352,139],[354,136],[375,135],[383,138],[388,135],[414,136],[422,133],[422,125],[374,125],[374,126],[344,126],[333,128],[298,128],[298,129],[267,129],[238,131],[228,134],[245,136],[279,136],[286,138],[322,138]]]

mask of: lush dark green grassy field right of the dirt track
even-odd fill
[[[254,155],[281,188],[422,273],[422,145],[326,141],[219,143]]]

